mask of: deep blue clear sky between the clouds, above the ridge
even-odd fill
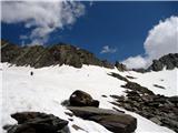
[[[178,2],[82,2],[85,13],[75,23],[57,29],[49,35],[47,44],[66,42],[93,52],[111,62],[129,57],[144,55],[144,43],[149,30],[160,20],[178,16]],[[2,10],[3,11],[3,10]],[[22,43],[21,34],[32,28],[24,22],[1,23],[2,39]],[[26,39],[24,43],[30,40]],[[101,52],[108,45],[111,51]]]

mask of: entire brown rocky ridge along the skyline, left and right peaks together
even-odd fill
[[[81,68],[82,64],[91,64],[109,69],[115,69],[116,66],[119,71],[128,70],[125,64],[118,61],[113,64],[107,60],[100,60],[92,52],[63,42],[48,47],[21,47],[1,39],[1,62],[9,62],[19,66],[30,65],[36,69],[62,64]],[[159,59],[152,60],[152,63],[147,69],[131,70],[137,72],[150,72],[161,71],[164,68],[167,70],[178,68],[178,53],[169,53]]]

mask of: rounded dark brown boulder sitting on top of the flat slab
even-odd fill
[[[72,106],[99,106],[99,101],[93,100],[90,94],[77,90],[70,95],[70,105]]]

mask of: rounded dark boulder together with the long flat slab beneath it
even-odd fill
[[[137,120],[120,111],[99,109],[99,101],[83,91],[75,91],[67,106],[73,115],[95,121],[115,133],[131,133],[137,127]]]

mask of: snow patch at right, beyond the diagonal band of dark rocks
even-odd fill
[[[125,74],[126,75],[126,74]],[[134,82],[148,88],[155,94],[162,94],[166,96],[178,95],[178,69],[175,70],[162,70],[159,72],[137,73],[130,72],[131,76],[136,78]],[[157,88],[154,84],[164,86],[165,89]]]

